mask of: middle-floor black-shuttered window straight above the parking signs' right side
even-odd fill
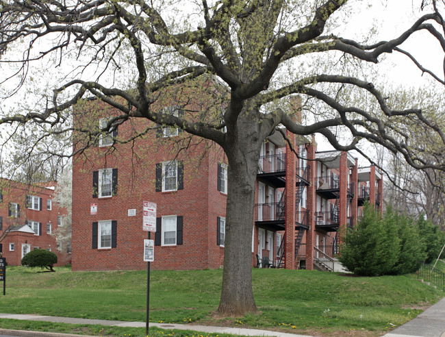
[[[183,189],[183,163],[172,160],[156,164],[156,192]]]

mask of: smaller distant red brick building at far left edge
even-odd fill
[[[64,211],[53,202],[55,182],[29,186],[0,179],[0,252],[10,266],[20,266],[21,259],[34,249],[48,249],[58,255],[58,266],[69,262],[60,253],[55,238]]]

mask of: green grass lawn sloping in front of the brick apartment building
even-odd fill
[[[37,273],[39,269],[8,266],[6,296],[1,296],[0,312],[145,320],[147,271],[56,270]],[[259,312],[216,319],[212,312],[218,307],[222,276],[221,270],[152,271],[150,321],[253,327],[319,336],[379,336],[444,296],[444,292],[416,281],[412,275],[351,277],[319,271],[253,269]],[[0,320],[0,327],[9,328],[10,324],[10,320]],[[45,328],[51,325],[55,324],[44,323]],[[136,328],[131,332],[128,328],[65,328],[103,336],[144,334],[144,329]],[[100,329],[104,330],[99,332]],[[162,335],[165,334],[168,332]],[[176,332],[174,336],[180,334]],[[192,334],[186,332],[183,336]]]

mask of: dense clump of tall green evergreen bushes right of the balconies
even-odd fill
[[[432,225],[431,225],[432,226]],[[356,275],[414,273],[419,260],[428,255],[437,258],[442,246],[439,229],[426,221],[416,223],[387,209],[383,218],[369,205],[357,226],[350,230],[340,246],[339,260]]]

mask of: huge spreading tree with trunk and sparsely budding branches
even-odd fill
[[[443,118],[418,105],[392,108],[387,93],[373,83],[376,77],[366,77],[384,55],[402,53],[444,84],[443,75],[401,47],[427,32],[445,50],[443,1],[401,1],[420,15],[404,32],[389,32],[390,40],[378,40],[373,28],[364,38],[351,38],[348,16],[356,8],[367,16],[367,1],[0,1],[1,62],[11,65],[2,74],[10,82],[3,89],[20,94],[31,82],[38,84],[33,90],[40,98],[27,110],[3,112],[1,124],[71,132],[70,108],[97,97],[120,112],[99,132],[146,118],[223,148],[229,186],[220,314],[257,310],[251,285],[255,177],[262,142],[280,125],[302,136],[322,134],[338,150],[361,151],[361,140],[377,142],[414,168],[445,170]],[[390,19],[395,25],[399,18]],[[35,77],[38,67],[44,76]],[[190,121],[152,109],[160,92],[209,75],[227,88],[218,118],[203,114]],[[53,89],[52,97],[45,88]],[[283,108],[294,94],[307,108],[301,124]],[[430,134],[431,146],[419,147],[413,132]],[[346,137],[339,140],[340,134]]]

